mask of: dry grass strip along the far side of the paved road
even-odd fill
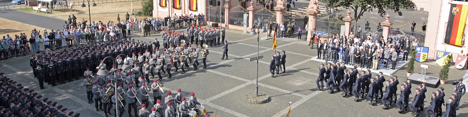
[[[80,2],[81,3],[81,2]],[[92,3],[91,3],[92,4]],[[132,5],[133,9],[140,9],[141,8],[141,1],[128,1],[128,2],[113,2],[113,3],[101,3],[96,4],[97,6],[91,6],[90,11],[91,14],[102,14],[102,13],[122,13],[122,12],[130,12],[132,13]],[[63,10],[57,9],[52,13],[45,13],[39,12],[37,13],[32,8],[25,8],[25,9],[18,9],[18,11],[43,15],[43,16],[66,16],[65,20],[68,18],[68,15],[88,15],[88,3],[86,3],[87,7],[81,7],[81,4],[74,3],[72,12],[65,12]],[[123,15],[125,17],[125,15]],[[77,17],[78,18],[78,17]],[[80,18],[78,18],[80,19]],[[117,16],[116,16],[117,19]]]

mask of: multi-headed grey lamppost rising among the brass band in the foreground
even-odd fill
[[[117,57],[119,57],[119,56],[126,57],[125,54],[120,54]],[[102,61],[104,61],[105,59],[112,59],[113,67],[112,67],[112,69],[110,69],[110,71],[114,72],[114,76],[117,76],[117,61],[112,57],[106,57],[106,58],[102,59]],[[124,65],[121,67],[121,69],[130,70],[130,69],[132,69],[132,66],[129,64],[129,61],[127,60],[127,61],[125,61]],[[106,76],[106,75],[109,75],[109,71],[106,70],[106,67],[101,67],[101,68],[99,68],[99,70],[97,71],[96,74],[99,75],[99,76]],[[117,80],[117,77],[115,78],[115,80]],[[117,81],[115,81],[115,80],[114,80],[114,92],[116,92],[116,94],[117,94],[118,93],[117,92],[117,87],[118,86],[117,86]],[[116,110],[117,110],[116,116],[117,117],[118,117],[118,104],[119,104],[118,102],[120,102],[119,100],[120,100],[120,98],[117,98],[117,96],[116,96]]]

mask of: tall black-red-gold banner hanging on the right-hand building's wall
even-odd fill
[[[461,40],[468,15],[468,5],[452,4],[450,6],[444,43],[462,46]]]

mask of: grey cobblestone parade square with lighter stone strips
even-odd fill
[[[133,36],[135,39],[146,42],[161,37],[159,34],[151,37]],[[309,59],[316,55],[316,51],[309,49],[306,41],[292,38],[278,38],[276,51],[285,50],[287,60],[286,73],[276,75],[275,78],[271,78],[268,71],[269,58],[275,53],[271,50],[272,41],[260,40],[259,55],[263,56],[263,59],[259,60],[258,65],[259,93],[270,96],[271,102],[259,105],[247,103],[245,95],[255,92],[256,62],[249,62],[249,58],[256,57],[256,37],[241,33],[239,30],[227,29],[226,39],[229,43],[228,60],[220,59],[221,45],[209,47],[210,55],[206,61],[208,66],[206,69],[201,69],[202,66],[199,66],[197,71],[192,71],[193,67],[190,66],[187,73],[173,73],[171,79],[167,79],[167,74],[163,75],[164,80],[161,81],[164,84],[163,89],[176,92],[178,88],[181,88],[185,97],[190,97],[190,92],[195,92],[198,101],[203,103],[207,113],[210,115],[216,113],[219,117],[285,117],[288,109],[287,102],[292,102],[291,116],[293,117],[411,116],[411,112],[408,111],[405,111],[403,115],[397,113],[398,109],[395,109],[395,105],[390,107],[390,110],[382,110],[383,105],[381,104],[370,106],[367,104],[369,103],[367,100],[361,99],[362,102],[354,102],[353,98],[344,98],[340,95],[341,93],[328,94],[316,91],[315,80],[320,63]],[[199,62],[200,65],[203,65],[201,61]],[[435,77],[438,76],[439,70],[442,68],[430,63],[416,63],[415,66],[420,64],[429,65],[427,74]],[[31,67],[29,67],[29,57],[0,61],[0,69],[0,72],[6,73],[12,80],[26,85],[27,88],[37,89],[37,93],[48,97],[53,102],[64,105],[70,111],[81,113],[83,115],[81,117],[104,116],[102,111],[95,111],[94,103],[88,104],[86,102],[86,91],[82,86],[82,79],[55,87],[45,85],[46,89],[38,90],[37,79],[33,77]],[[406,80],[405,69],[402,68],[395,73],[395,75],[400,76],[400,81]],[[416,67],[415,73],[418,73],[419,70],[421,68]],[[460,79],[464,73],[465,71],[452,69],[447,83]],[[390,76],[385,77],[389,78]],[[440,87],[446,88],[446,95],[452,93],[454,88],[450,84],[440,85]],[[428,88],[426,95],[434,91],[434,88]],[[163,94],[163,97],[166,96]],[[410,95],[410,100],[413,96]],[[448,96],[445,98],[448,100]],[[467,100],[467,96],[461,99],[461,109],[457,111],[460,117],[468,116]],[[431,98],[426,98],[424,101],[425,104],[429,104]],[[149,106],[149,108],[151,107],[153,105]],[[445,111],[445,107],[443,110]],[[125,107],[123,117],[128,117],[126,111]],[[112,114],[114,116],[114,113]],[[424,112],[421,112],[421,115],[424,115]]]

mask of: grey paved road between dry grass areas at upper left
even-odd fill
[[[21,11],[16,11],[16,10],[10,10],[10,11],[4,11],[0,12],[1,18],[5,18],[8,20],[13,20],[17,22],[23,22],[29,25],[34,25],[38,27],[42,27],[45,29],[63,29],[63,24],[65,20],[60,20],[60,19],[55,19],[51,17],[46,17],[42,15],[35,15],[35,14],[29,14]]]

